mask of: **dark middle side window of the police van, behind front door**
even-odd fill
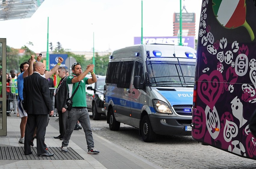
[[[129,88],[133,70],[133,61],[125,61],[120,64],[120,74],[117,87]]]

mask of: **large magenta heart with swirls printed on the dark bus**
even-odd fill
[[[214,70],[208,76],[203,74],[198,79],[198,96],[199,98],[213,109],[223,90],[223,76],[220,71]]]

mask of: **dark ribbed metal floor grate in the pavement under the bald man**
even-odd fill
[[[36,147],[31,147],[33,152],[30,155],[24,154],[24,147],[0,147],[0,160],[84,160],[71,147],[68,152],[63,153],[60,147],[47,147],[49,153],[54,153],[51,157],[39,157]]]

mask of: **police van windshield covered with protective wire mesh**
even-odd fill
[[[150,86],[194,87],[195,58],[148,57]]]

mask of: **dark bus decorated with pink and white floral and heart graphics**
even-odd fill
[[[254,0],[203,0],[197,43],[192,138],[256,159],[249,129],[256,108]]]

